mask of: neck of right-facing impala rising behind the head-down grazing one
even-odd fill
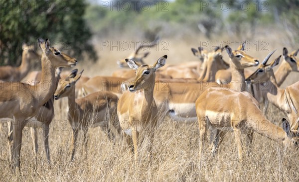
[[[238,69],[234,64],[232,64],[230,67],[231,72],[232,72],[232,81],[233,86],[231,85],[231,89],[233,87],[234,91],[247,91],[247,85],[245,85],[245,74],[244,74],[244,69]]]

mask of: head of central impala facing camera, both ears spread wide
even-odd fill
[[[162,56],[153,65],[141,65],[131,59],[126,59],[127,64],[133,70],[136,70],[134,82],[128,86],[131,92],[144,90],[147,91],[154,86],[155,71],[164,66],[167,56]]]

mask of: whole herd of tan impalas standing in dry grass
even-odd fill
[[[19,67],[0,67],[0,118],[3,118],[1,122],[8,122],[11,167],[19,172],[25,126],[31,127],[35,162],[38,150],[36,128],[43,128],[44,148],[51,164],[49,125],[54,118],[54,99],[61,97],[68,98],[71,161],[75,158],[79,130],[84,132],[87,157],[87,132],[90,127],[97,126],[114,143],[116,136],[124,138],[135,160],[139,159],[139,147],[147,137],[151,160],[154,130],[161,117],[198,122],[200,160],[208,131],[213,155],[217,154],[225,132],[233,131],[240,161],[244,158],[241,133],[246,135],[247,155],[251,151],[254,132],[280,142],[286,148],[298,147],[299,82],[286,89],[280,86],[292,71],[299,72],[299,50],[288,54],[284,48],[282,63],[274,73],[273,68],[279,64],[281,56],[268,64],[273,51],[260,63],[254,55],[244,51],[245,43],[237,50],[229,46],[217,47],[211,52],[192,48],[199,60],[177,65],[166,64],[166,55],[153,65],[146,64],[143,58],[149,53],[140,54],[145,47],[141,45],[128,59],[117,62],[120,67],[130,69],[122,68],[112,76],[89,78],[82,76],[83,70],[61,73],[62,67],[76,66],[77,60],[51,47],[49,39],[38,38],[38,44],[41,55],[23,45]],[[224,50],[229,63],[223,60]],[[34,59],[41,59],[41,72],[29,73],[29,61]],[[251,72],[246,69],[249,67],[257,67],[257,70]],[[264,115],[268,102],[287,116],[282,121],[282,128]]]

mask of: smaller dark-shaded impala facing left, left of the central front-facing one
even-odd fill
[[[72,135],[72,157],[74,160],[77,147],[79,129],[84,131],[84,144],[87,157],[88,129],[100,126],[108,135],[110,140],[114,139],[111,127],[118,126],[116,121],[116,109],[118,97],[109,91],[99,91],[85,97],[75,99],[75,84],[80,79],[82,72],[77,75],[77,69],[59,83],[59,88],[54,94],[55,99],[68,97],[68,121],[73,129]],[[117,128],[120,132],[120,127]]]

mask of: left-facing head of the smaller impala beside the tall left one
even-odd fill
[[[81,78],[84,70],[77,74],[78,69],[73,70],[67,78],[60,80],[58,88],[54,93],[54,99],[57,100],[61,97],[67,96],[69,93],[75,93],[75,84]]]

